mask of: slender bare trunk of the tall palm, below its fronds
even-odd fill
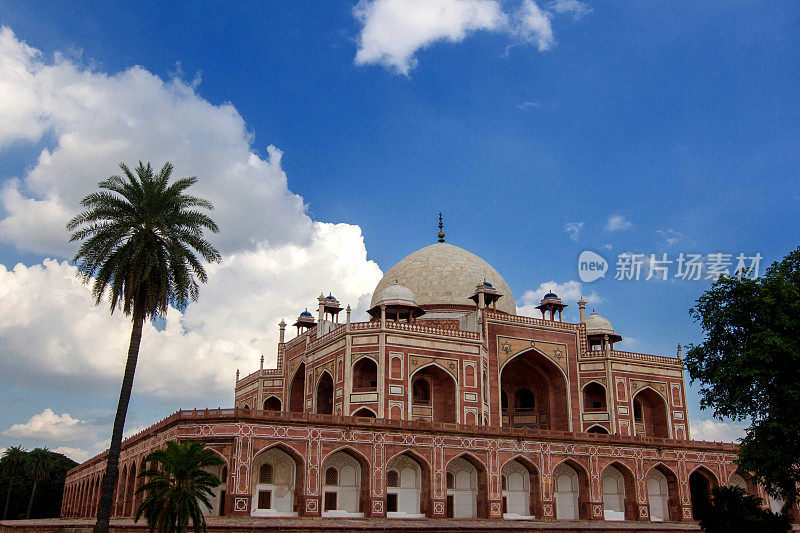
[[[111,504],[114,500],[114,487],[119,476],[119,453],[122,448],[122,432],[125,428],[125,417],[128,414],[128,403],[133,389],[133,375],[136,372],[136,360],[139,358],[139,345],[142,342],[142,325],[144,324],[144,311],[140,303],[133,306],[133,330],[131,342],[128,346],[128,362],[125,364],[125,376],[122,378],[122,390],[119,393],[117,415],[114,418],[114,431],[111,433],[111,447],[108,449],[106,459],[106,474],[103,477],[103,487],[100,493],[100,505],[97,508],[97,522],[95,533],[108,533],[108,524],[111,520]]]

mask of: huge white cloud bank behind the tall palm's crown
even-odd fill
[[[120,161],[172,161],[216,206],[223,262],[209,266],[197,302],[171,309],[163,327],[145,326],[135,394],[228,404],[236,368],[255,370],[262,353],[274,363],[281,319],[321,291],[356,306],[380,280],[360,228],[313,221],[288,188],[282,152],[259,155],[253,140],[232,105],[211,104],[180,79],[142,67],[97,72],[58,54],[48,61],[0,29],[0,151],[47,146],[0,186],[0,240],[71,256],[65,222]],[[118,391],[130,320],[96,307],[75,274],[58,259],[0,265],[0,309],[13,310],[0,313],[0,381]]]

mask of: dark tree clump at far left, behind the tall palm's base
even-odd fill
[[[0,458],[0,491],[3,491],[3,503],[8,502],[9,520],[25,518],[31,495],[34,494],[34,480],[28,473],[30,468],[29,457],[33,452],[27,452],[19,446],[11,446]],[[30,509],[31,518],[55,518],[61,514],[61,500],[64,494],[64,480],[67,472],[77,463],[60,454],[42,449],[48,459],[44,475],[36,484],[35,498]],[[34,458],[39,453],[34,454]],[[42,463],[37,460],[36,462]]]

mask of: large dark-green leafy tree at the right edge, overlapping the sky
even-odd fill
[[[792,505],[800,483],[800,248],[760,279],[720,277],[690,314],[705,336],[686,356],[701,406],[751,420],[738,463]]]

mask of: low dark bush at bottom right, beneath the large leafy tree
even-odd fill
[[[761,498],[741,487],[714,487],[700,527],[708,533],[786,533],[791,523],[787,515],[764,509]]]

